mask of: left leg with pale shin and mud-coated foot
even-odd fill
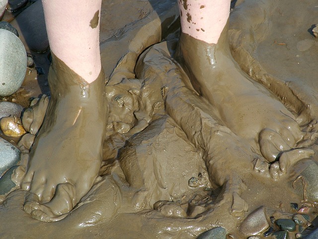
[[[98,178],[108,112],[99,52],[101,0],[43,0],[43,7],[53,56],[51,100],[21,187],[31,193],[26,212],[56,221]]]

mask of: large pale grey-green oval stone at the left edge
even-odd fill
[[[26,52],[20,39],[0,29],[0,97],[16,92],[26,73]]]

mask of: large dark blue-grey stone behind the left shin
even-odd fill
[[[42,1],[36,1],[23,10],[10,22],[20,34],[26,47],[37,53],[46,52],[49,48],[49,39],[46,32]]]

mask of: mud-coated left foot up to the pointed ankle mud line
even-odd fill
[[[26,212],[38,220],[57,221],[98,176],[108,113],[102,71],[87,84],[54,56],[49,81],[51,100],[21,187],[30,191]]]

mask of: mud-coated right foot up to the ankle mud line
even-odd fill
[[[222,123],[247,140],[254,152],[274,162],[279,152],[296,148],[305,133],[276,96],[239,68],[230,53],[227,28],[217,44],[181,33],[176,57],[195,90],[217,108]],[[300,153],[299,159],[308,155],[312,153]],[[297,161],[295,157],[291,161]],[[285,173],[286,168],[280,170]]]

